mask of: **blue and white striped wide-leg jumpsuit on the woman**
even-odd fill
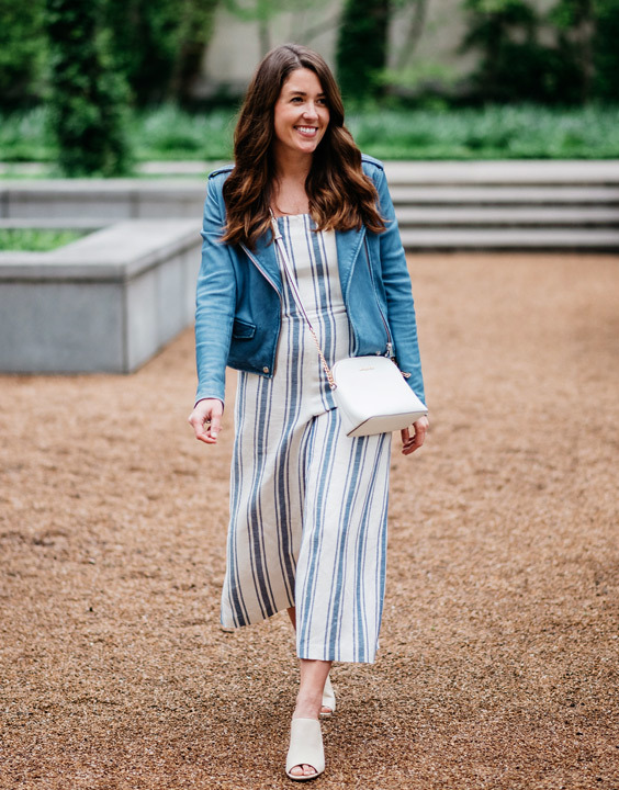
[[[280,228],[329,364],[353,353],[335,234]],[[285,283],[285,276],[282,276]],[[285,287],[272,379],[240,373],[222,623],[296,606],[301,658],[373,662],[381,624],[391,435],[348,438]]]

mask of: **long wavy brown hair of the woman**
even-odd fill
[[[382,233],[378,193],[361,169],[361,151],[344,125],[337,82],[317,53],[297,44],[271,49],[249,84],[234,135],[235,167],[224,183],[226,225],[222,241],[256,247],[270,233],[274,160],[274,105],[282,86],[296,69],[314,71],[329,109],[329,123],[305,181],[310,213],[319,230],[351,230],[364,225]]]

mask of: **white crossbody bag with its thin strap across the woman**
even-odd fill
[[[410,390],[401,370],[389,357],[349,357],[329,368],[312,321],[303,307],[296,279],[274,216],[272,225],[277,249],[292,295],[318,349],[347,436],[390,433],[407,428],[419,417],[427,415],[428,409]]]

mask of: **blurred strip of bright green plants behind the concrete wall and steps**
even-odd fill
[[[370,106],[350,112],[347,122],[360,148],[380,159],[619,158],[619,106]],[[135,113],[130,137],[137,161],[229,160],[234,125],[233,111],[190,114],[164,105]],[[41,108],[0,116],[0,161],[53,163],[45,128]]]

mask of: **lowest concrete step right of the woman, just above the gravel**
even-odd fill
[[[402,244],[409,251],[455,249],[619,251],[619,229],[547,228],[404,228]]]

